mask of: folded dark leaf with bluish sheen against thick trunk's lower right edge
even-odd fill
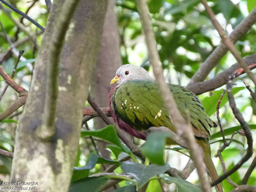
[[[92,153],[88,158],[88,161],[84,167],[74,167],[74,172],[72,175],[71,182],[88,177],[89,171],[93,169],[96,164],[121,164],[121,163],[118,161],[104,159],[100,157],[98,154]]]

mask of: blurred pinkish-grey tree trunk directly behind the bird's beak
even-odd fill
[[[100,107],[109,106],[108,94],[113,87],[110,85],[110,80],[115,76],[117,68],[122,64],[118,26],[114,8],[115,2],[114,0],[110,0],[103,27],[100,52],[92,82],[92,95]],[[106,123],[104,123],[100,117],[94,118],[93,123],[95,129],[102,129],[106,126]],[[101,156],[109,158],[109,151],[106,150],[105,146],[105,143],[98,142]]]

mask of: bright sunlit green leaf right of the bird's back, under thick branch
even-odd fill
[[[244,90],[245,87],[235,87],[232,89],[232,93],[235,95],[241,90]],[[202,101],[202,104],[204,106],[205,112],[208,116],[211,116],[217,111],[217,104],[218,101],[220,100],[220,96],[222,94],[223,89],[219,91],[212,91],[212,96],[210,97],[205,97]],[[225,92],[221,103],[220,103],[220,108],[224,106],[228,102],[228,95],[227,92]]]

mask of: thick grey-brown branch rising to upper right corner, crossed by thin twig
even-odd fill
[[[252,9],[250,14],[244,18],[229,35],[234,43],[242,36],[244,36],[256,22],[256,7]],[[197,82],[204,81],[210,71],[217,65],[219,60],[228,52],[228,47],[221,43],[200,65],[200,68],[196,71],[195,75],[190,79],[188,86],[191,86]]]

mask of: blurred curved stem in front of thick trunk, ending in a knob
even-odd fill
[[[79,0],[66,0],[60,11],[58,19],[55,21],[52,36],[49,44],[49,62],[47,68],[46,97],[44,113],[42,116],[42,126],[37,130],[38,136],[42,139],[52,137],[55,133],[55,116],[58,98],[58,79],[60,53],[72,15]],[[60,30],[61,29],[61,30]]]

